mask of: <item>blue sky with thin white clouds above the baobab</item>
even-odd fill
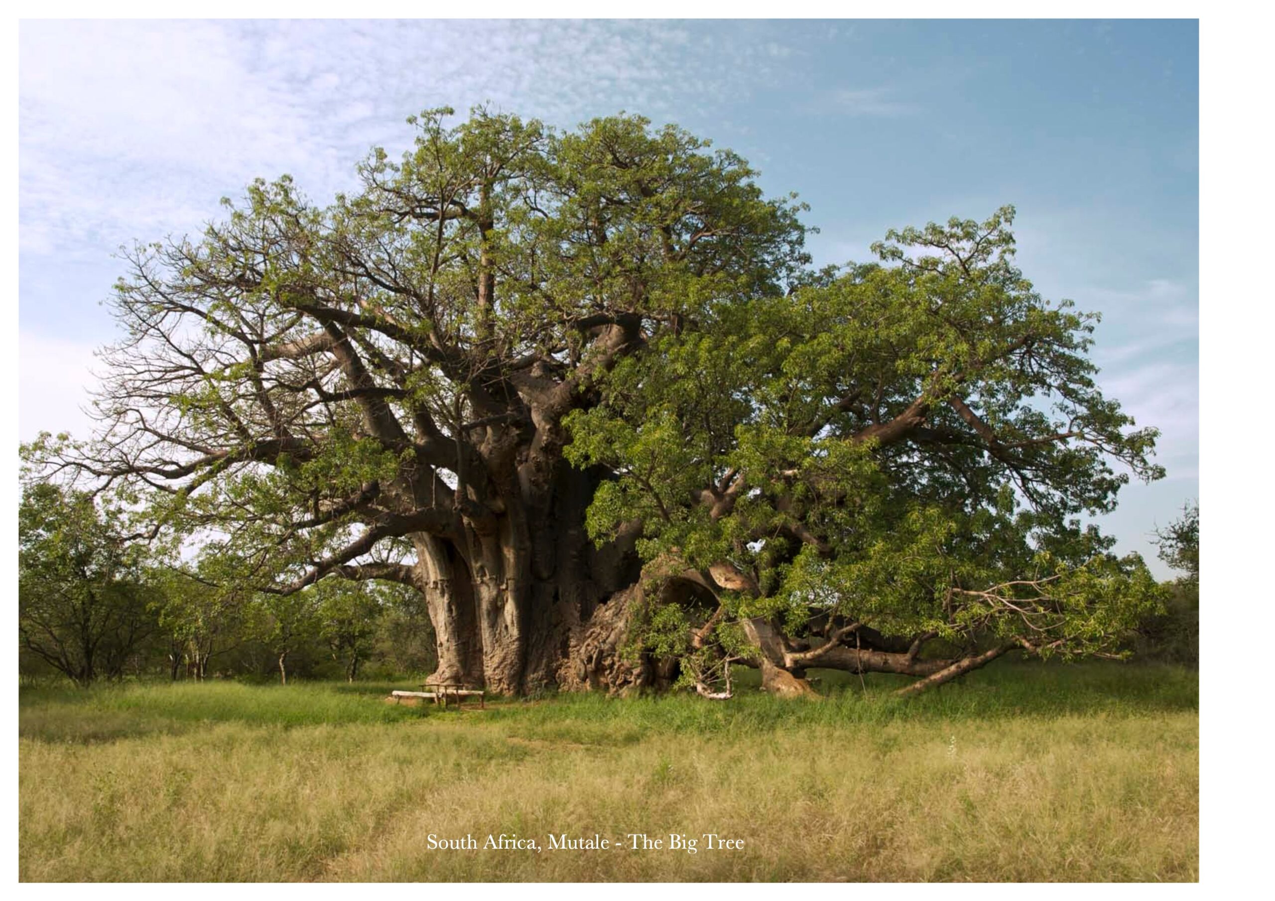
[[[255,176],[328,199],[426,107],[625,110],[798,191],[819,263],[1015,204],[1024,271],[1103,312],[1102,385],[1164,433],[1168,478],[1104,521],[1153,561],[1198,493],[1197,47],[1195,22],[23,22],[19,436],[85,428],[119,245]]]

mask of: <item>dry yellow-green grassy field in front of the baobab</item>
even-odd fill
[[[1193,881],[1196,674],[1006,664],[929,696],[23,688],[26,881]],[[708,849],[705,833],[742,840]],[[488,835],[534,850],[484,850]],[[550,835],[622,846],[551,850]],[[629,833],[664,847],[630,850]],[[478,850],[431,850],[472,835]],[[671,850],[669,835],[696,840]]]

